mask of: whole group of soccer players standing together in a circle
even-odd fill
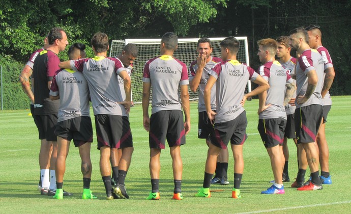
[[[99,32],[92,38],[94,58],[85,58],[85,46],[76,43],[69,48],[70,60],[60,62],[57,54],[68,45],[65,31],[51,29],[44,43],[43,48],[33,53],[19,79],[24,92],[33,102],[31,112],[41,139],[41,194],[52,195],[56,199],[71,195],[63,190],[63,178],[73,139],[82,161],[82,198],[96,198],[90,190],[91,100],[106,199],[128,199],[125,179],[134,150],[128,117],[133,104],[130,75],[132,63],[138,55],[136,46],[128,44],[120,56],[109,58],[108,37]],[[160,199],[160,153],[166,140],[172,158],[172,198],[183,199],[180,146],[185,144],[185,136],[190,131],[188,85],[192,91],[199,89],[198,137],[206,139],[209,147],[203,185],[196,197],[211,197],[211,183],[229,183],[226,171],[230,141],[235,161],[232,198],[241,198],[243,144],[247,139],[243,107],[247,98],[255,95],[259,96],[258,131],[271,158],[274,175],[273,185],[261,193],[285,192],[283,182],[289,181],[287,138],[294,139],[298,147],[299,172],[291,186],[298,190],[318,190],[322,189],[321,183],[331,183],[324,123],[331,105],[328,90],[333,82],[334,70],[328,51],[321,46],[319,27],[313,25],[308,29],[295,29],[289,37],[282,36],[277,41],[262,39],[257,43],[257,55],[262,63],[257,72],[237,60],[239,41],[235,37],[227,37],[221,42],[221,59],[211,56],[209,39],[199,39],[199,55],[188,72],[183,62],[173,58],[178,45],[177,35],[166,33],[162,36],[161,56],[145,64],[142,78],[143,127],[149,132],[152,184],[146,199]],[[298,60],[290,56],[291,47],[300,55]],[[28,81],[32,74],[33,91]],[[244,94],[249,79],[258,87]],[[311,175],[305,183],[307,165]]]

